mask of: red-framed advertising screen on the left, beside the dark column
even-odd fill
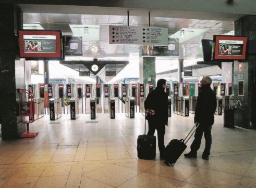
[[[61,31],[21,30],[19,48],[21,58],[60,58]]]

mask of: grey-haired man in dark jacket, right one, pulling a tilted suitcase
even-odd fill
[[[194,140],[190,146],[191,151],[187,154],[184,154],[184,156],[188,158],[197,157],[197,151],[200,148],[202,136],[204,133],[205,148],[202,154],[202,158],[209,160],[212,145],[211,129],[214,123],[214,113],[217,105],[216,96],[210,87],[211,83],[212,79],[209,76],[205,76],[201,80],[202,87],[198,95],[196,111],[194,114],[194,123],[199,123],[200,125],[196,130]]]

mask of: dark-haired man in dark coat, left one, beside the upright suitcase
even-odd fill
[[[164,159],[164,134],[165,125],[168,125],[168,95],[164,91],[166,88],[166,80],[159,79],[156,88],[151,91],[145,100],[145,110],[150,114],[148,118],[149,131],[148,135],[154,135],[157,130],[158,146],[160,151],[160,158]]]

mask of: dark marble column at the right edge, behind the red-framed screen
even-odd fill
[[[256,16],[245,16],[235,21],[235,35],[246,36],[249,41],[256,40]],[[235,61],[234,63],[234,104],[237,106],[235,109],[235,125],[248,129],[256,128],[255,65],[256,56],[251,54],[248,55],[246,62]],[[238,93],[239,81],[243,81],[243,95],[241,95],[241,92]]]

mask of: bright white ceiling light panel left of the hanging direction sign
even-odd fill
[[[69,24],[72,36],[82,36],[83,41],[99,41],[100,25]]]

